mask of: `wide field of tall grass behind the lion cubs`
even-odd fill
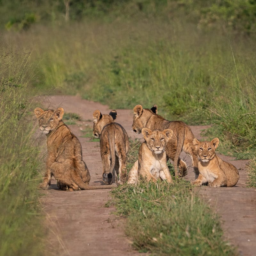
[[[110,108],[157,104],[169,120],[214,124],[209,136],[221,139],[222,152],[255,155],[253,36],[135,17],[36,26],[8,37],[33,49],[35,93],[79,94]]]

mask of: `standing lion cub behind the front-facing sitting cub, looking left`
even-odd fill
[[[187,124],[182,121],[170,122],[162,116],[157,115],[156,105],[151,109],[136,105],[133,108],[132,130],[140,133],[143,127],[160,131],[171,129],[173,131],[172,139],[168,141],[165,151],[167,158],[171,158],[174,162],[175,175],[180,177],[187,175],[187,164],[180,159],[180,153],[183,150],[191,157],[195,179],[198,177],[197,157],[193,145],[195,136]]]

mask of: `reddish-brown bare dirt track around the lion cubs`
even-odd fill
[[[81,121],[69,125],[82,145],[83,158],[91,174],[90,185],[103,185],[102,165],[99,142],[82,137],[86,125],[92,127],[92,113],[99,109],[108,114],[111,109],[97,102],[82,100],[78,96],[49,96],[41,99],[41,108],[63,107],[66,113],[76,113]],[[150,107],[150,106],[146,106]],[[116,109],[116,122],[124,126],[128,136],[134,140],[142,139],[141,134],[132,132],[132,109]],[[202,139],[200,132],[205,126],[191,126],[197,139]],[[46,153],[45,135],[38,134],[42,154]],[[221,142],[220,142],[221,143]],[[198,188],[200,195],[220,216],[224,239],[237,247],[240,255],[256,255],[256,189],[246,188],[246,164],[248,160],[234,160],[220,155],[225,161],[234,164],[240,174],[235,187]],[[181,155],[188,165],[190,157]],[[194,180],[193,168],[188,168],[187,180]],[[88,256],[136,256],[147,255],[132,248],[132,241],[125,235],[125,219],[113,214],[115,207],[106,207],[111,199],[109,189],[82,190],[66,192],[58,189],[52,179],[49,190],[42,191],[43,211],[46,215],[48,254],[52,255],[88,255]]]

